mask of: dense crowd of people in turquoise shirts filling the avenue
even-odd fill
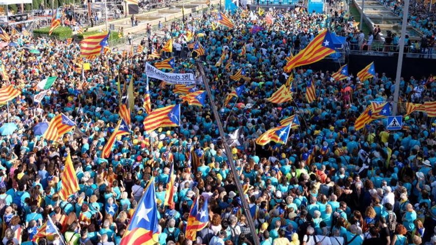
[[[78,44],[12,36],[17,47],[0,49],[5,69],[2,87],[13,84],[21,96],[0,108],[0,124],[17,126],[0,142],[2,244],[119,244],[152,176],[160,245],[252,245],[256,239],[261,245],[436,244],[435,120],[414,112],[404,118],[401,131],[386,131],[386,119],[360,131],[354,129],[355,119],[370,101],[392,101],[395,81],[384,74],[366,81],[350,74],[334,81],[335,71],[297,68],[293,100],[267,101],[288,80],[283,66],[290,50],[306,47],[326,28],[350,33],[352,23],[340,20],[342,13],[274,9],[250,14],[238,10],[226,13],[235,25],[229,29],[217,26],[216,14],[210,10],[191,17],[186,26],[174,23],[163,38],[150,35],[149,49],[142,52],[112,50],[85,60],[91,63],[84,72],[86,83],[77,71],[81,67],[77,65],[81,60]],[[253,23],[265,29],[253,33]],[[155,62],[148,54],[160,50],[168,38],[175,40],[174,53],[183,53],[187,29],[195,32],[194,39],[202,44],[205,55],[176,56],[174,72],[195,73],[197,63],[202,62],[212,87],[208,99],[218,107],[224,131],[243,131],[241,144],[231,147],[237,180],[228,166],[209,103],[188,105],[173,85],[150,79],[152,109],[180,103],[182,122],[180,127],[155,132],[143,128],[147,116],[144,63]],[[179,46],[181,52],[177,52]],[[246,53],[240,55],[243,47]],[[222,56],[222,64],[217,65]],[[226,68],[227,62],[231,65]],[[240,68],[244,76],[231,80],[229,76]],[[57,79],[42,102],[36,103],[33,98],[40,91],[35,86],[49,76]],[[132,77],[131,135],[117,139],[109,158],[102,158],[102,149],[119,120],[119,99],[126,94],[123,85]],[[307,103],[306,84],[312,79],[317,100]],[[227,94],[241,85],[245,85],[244,93],[224,105]],[[347,87],[351,92],[344,92]],[[429,73],[428,77],[403,79],[400,92],[402,101],[433,101],[434,77]],[[58,142],[46,141],[34,132],[36,124],[49,122],[59,113],[76,123],[74,131]],[[291,115],[299,124],[285,145],[255,144],[257,137]],[[200,156],[198,166],[191,163],[193,148]],[[80,191],[64,201],[58,193],[68,153]],[[171,164],[176,175],[175,205],[164,206]],[[369,167],[362,168],[364,164]],[[243,193],[236,191],[236,181],[243,185]],[[185,228],[198,196],[200,203],[209,202],[210,222],[190,241]],[[243,199],[250,210],[243,210]],[[253,217],[256,238],[251,235],[247,211]],[[59,234],[32,241],[49,216]]]

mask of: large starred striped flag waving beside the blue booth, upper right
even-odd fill
[[[330,33],[324,30],[318,34],[306,48],[289,60],[283,67],[283,70],[290,72],[294,67],[315,63],[334,52],[335,50]]]

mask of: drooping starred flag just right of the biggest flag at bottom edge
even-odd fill
[[[198,211],[198,199],[197,196],[192,203],[191,211],[189,212],[188,222],[186,224],[186,238],[195,241],[197,232],[205,229],[209,223],[209,208],[208,199],[205,198],[203,207]]]

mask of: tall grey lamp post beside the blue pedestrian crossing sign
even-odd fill
[[[393,94],[393,104],[392,104],[392,115],[397,114],[398,107],[398,97],[400,93],[400,79],[401,79],[401,68],[403,66],[403,54],[404,54],[404,39],[406,35],[406,26],[407,26],[407,16],[409,13],[409,0],[404,0],[404,8],[403,8],[403,23],[401,25],[401,38],[399,43],[400,51],[398,53],[398,62],[397,62],[397,74],[395,77],[395,91]]]

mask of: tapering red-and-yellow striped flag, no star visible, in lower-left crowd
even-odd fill
[[[79,182],[77,181],[76,170],[71,161],[70,153],[65,158],[65,166],[61,175],[59,197],[66,201],[69,196],[74,195],[80,190]]]

